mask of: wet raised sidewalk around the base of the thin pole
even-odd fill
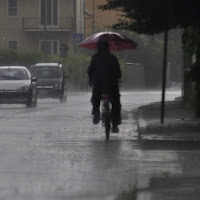
[[[200,142],[200,119],[181,100],[165,102],[165,120],[160,123],[160,103],[136,111],[138,139],[145,141]]]

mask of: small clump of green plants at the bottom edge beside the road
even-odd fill
[[[137,190],[136,187],[129,187],[120,192],[114,200],[136,200]]]

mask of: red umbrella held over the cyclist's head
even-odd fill
[[[81,42],[79,47],[96,50],[99,38],[105,38],[109,42],[110,51],[131,50],[137,47],[135,42],[116,32],[100,32],[93,34]]]

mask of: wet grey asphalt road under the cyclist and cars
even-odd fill
[[[138,144],[133,110],[160,101],[160,92],[122,92],[120,133],[109,142],[101,124],[92,124],[90,95],[70,93],[66,104],[39,100],[36,109],[0,105],[0,200],[113,200],[162,174],[199,175],[199,150]]]

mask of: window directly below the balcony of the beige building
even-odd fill
[[[47,55],[58,54],[58,41],[57,40],[47,40],[40,41],[40,50]]]

